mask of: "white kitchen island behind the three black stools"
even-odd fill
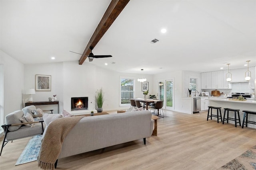
[[[224,98],[209,98],[208,100],[209,100],[209,106],[221,107],[222,117],[224,115],[224,108],[240,109],[239,114],[240,114],[241,125],[244,117],[244,112],[242,112],[243,110],[256,111],[255,100],[237,101],[237,100],[229,100]],[[234,118],[233,112],[229,113],[229,117]],[[249,115],[248,120],[256,121],[256,115]],[[234,124],[234,121],[229,121],[229,123]],[[225,121],[225,124],[226,124],[226,121]],[[256,129],[256,125],[254,124],[248,123],[248,127],[252,127]]]

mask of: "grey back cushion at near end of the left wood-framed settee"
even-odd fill
[[[5,117],[5,123],[6,125],[10,125],[10,124],[16,124],[16,123],[22,123],[20,121],[20,117],[22,117],[24,115],[24,112],[22,110],[17,110],[14,111],[10,114],[8,114]],[[16,131],[21,127],[21,125],[16,125],[16,126],[10,126],[9,127],[9,131]]]

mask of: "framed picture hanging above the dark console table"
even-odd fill
[[[36,74],[36,91],[51,91],[52,76]]]

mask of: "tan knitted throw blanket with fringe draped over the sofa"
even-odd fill
[[[62,143],[70,130],[84,116],[63,117],[52,121],[44,134],[37,158],[38,166],[44,170],[54,170],[54,163],[62,149]]]

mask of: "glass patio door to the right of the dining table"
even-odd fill
[[[164,100],[163,108],[174,110],[173,80],[159,80],[158,81],[157,98],[159,100]]]

